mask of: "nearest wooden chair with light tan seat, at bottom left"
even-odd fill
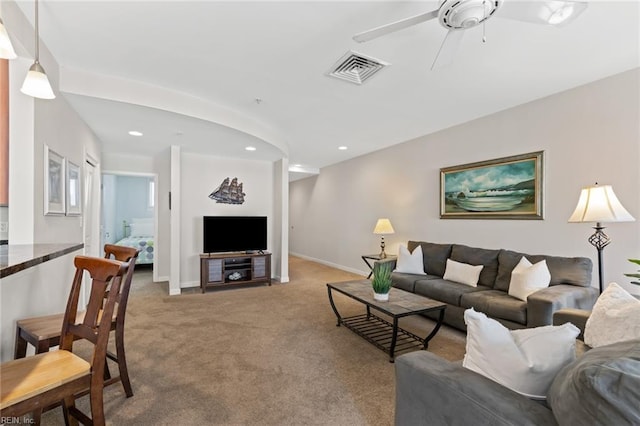
[[[111,320],[127,264],[111,259],[76,256],[76,273],[64,313],[60,350],[0,364],[0,417],[11,419],[62,401],[65,423],[105,424],[104,367]],[[91,292],[82,322],[77,322],[84,272],[91,276]],[[72,352],[73,342],[93,343],[91,362]],[[75,395],[89,389],[91,418],[75,406]],[[39,423],[39,414],[35,417]],[[70,423],[72,422],[72,423]]]

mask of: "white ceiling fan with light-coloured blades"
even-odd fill
[[[561,26],[587,8],[584,1],[541,0],[441,0],[436,10],[382,25],[353,36],[359,43],[438,18],[448,29],[431,69],[450,64],[462,42],[464,30],[476,27],[496,15],[502,18]]]

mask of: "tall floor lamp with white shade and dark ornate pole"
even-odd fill
[[[598,251],[598,278],[600,293],[603,290],[604,271],[602,268],[602,251],[611,243],[611,239],[602,230],[603,222],[633,222],[635,219],[622,206],[613,192],[611,185],[582,188],[578,205],[569,218],[569,222],[595,222],[596,232],[589,237],[589,242]]]

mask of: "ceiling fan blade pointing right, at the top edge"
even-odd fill
[[[587,8],[584,1],[527,1],[505,0],[496,16],[532,22],[562,26],[576,19]]]

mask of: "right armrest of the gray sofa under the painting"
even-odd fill
[[[527,298],[527,327],[553,324],[553,313],[563,308],[591,309],[598,289],[560,284],[543,288]]]

